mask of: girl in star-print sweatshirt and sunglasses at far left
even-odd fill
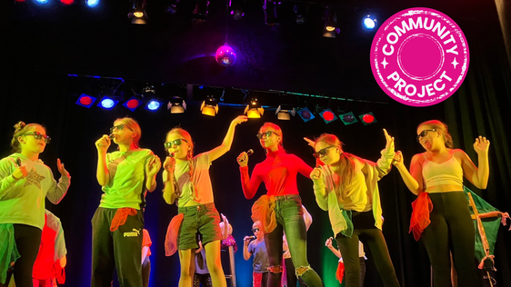
[[[45,197],[60,203],[69,188],[69,173],[57,159],[58,183],[51,169],[39,160],[50,137],[40,124],[15,124],[13,154],[0,161],[0,283],[15,262],[16,286],[32,287],[34,266],[45,226]],[[8,282],[7,282],[8,283]]]

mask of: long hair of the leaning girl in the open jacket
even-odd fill
[[[341,150],[340,158],[339,158],[339,168],[336,170],[336,174],[339,176],[340,190],[346,190],[346,187],[351,184],[351,181],[354,177],[356,163],[354,158],[356,157],[353,154],[343,152],[343,144],[339,138],[335,134],[321,134],[316,139],[317,143],[327,143],[330,146],[335,145],[338,146]],[[342,194],[339,194],[342,195]]]

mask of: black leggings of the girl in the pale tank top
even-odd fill
[[[457,272],[458,286],[481,286],[475,259],[474,222],[464,192],[429,193],[433,210],[431,223],[421,235],[433,267],[435,287],[451,287],[451,260]]]

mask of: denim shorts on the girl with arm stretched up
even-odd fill
[[[179,250],[198,248],[197,233],[202,235],[203,245],[222,240],[222,231],[218,225],[220,215],[216,211],[215,203],[179,207],[178,213],[185,215],[177,237]]]

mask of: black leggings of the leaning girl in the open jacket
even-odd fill
[[[381,230],[375,226],[373,211],[352,213],[354,231],[351,238],[338,233],[337,246],[345,263],[345,287],[360,286],[360,257],[358,241],[364,243],[371,251],[371,256],[386,287],[399,287],[396,271],[390,260],[385,238]]]

